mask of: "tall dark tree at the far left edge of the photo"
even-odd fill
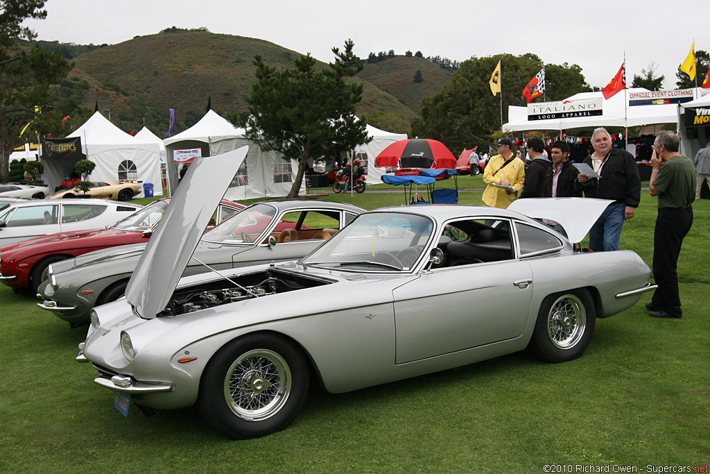
[[[44,4],[45,0],[0,0],[0,183],[7,181],[10,153],[28,123],[26,135],[44,133],[60,123],[62,114],[73,112],[58,111],[50,90],[73,64],[38,45],[23,45],[36,35],[21,23],[26,18],[44,19]]]

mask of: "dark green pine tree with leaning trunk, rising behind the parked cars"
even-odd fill
[[[334,63],[316,70],[310,55],[294,61],[295,69],[281,69],[256,55],[256,82],[245,96],[249,112],[227,114],[236,126],[246,129],[246,138],[262,149],[278,151],[298,161],[298,171],[288,193],[296,198],[307,160],[339,156],[369,141],[366,123],[355,116],[363,86],[349,78],[363,68],[345,42],[341,53],[333,48]]]

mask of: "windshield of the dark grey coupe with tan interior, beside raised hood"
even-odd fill
[[[202,240],[224,244],[251,244],[271,225],[275,214],[276,209],[270,205],[249,206],[207,232]]]

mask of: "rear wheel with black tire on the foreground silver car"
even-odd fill
[[[545,362],[567,362],[584,354],[594,334],[596,311],[589,291],[547,296],[537,313],[528,350]]]

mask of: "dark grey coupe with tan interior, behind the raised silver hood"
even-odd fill
[[[295,260],[364,212],[346,203],[322,200],[271,200],[256,203],[206,232],[183,276],[239,266]],[[37,306],[72,327],[89,323],[94,306],[115,301],[126,291],[145,244],[98,250],[50,265],[40,284]]]

